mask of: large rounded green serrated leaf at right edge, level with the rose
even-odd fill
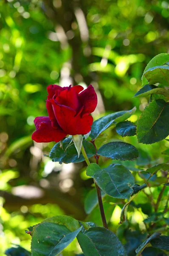
[[[137,123],[139,143],[152,144],[169,135],[169,103],[162,99],[150,102],[141,114]]]

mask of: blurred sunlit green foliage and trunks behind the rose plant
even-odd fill
[[[49,84],[92,84],[99,99],[94,119],[136,106],[130,117],[136,122],[149,99],[133,96],[146,64],[169,52],[168,28],[167,0],[0,1],[0,255],[12,244],[30,250],[25,229],[54,215],[101,225],[97,207],[88,217],[84,210],[93,183],[85,175],[85,163],[60,165],[44,156],[54,143],[31,140],[34,118],[47,115]],[[97,145],[105,140],[121,137],[110,128]],[[160,153],[167,141],[123,141],[140,149],[138,166],[166,161]],[[112,162],[101,161],[105,166]],[[135,178],[139,181],[137,173]],[[154,196],[160,191],[155,189]],[[104,202],[107,220],[116,230],[124,201],[109,200]],[[144,193],[137,202],[147,202]],[[134,230],[144,230],[145,211],[131,206]],[[74,241],[63,255],[80,252]]]

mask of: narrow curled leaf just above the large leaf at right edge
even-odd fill
[[[162,94],[166,97],[169,97],[169,92],[163,87],[157,87],[153,84],[146,84],[141,88],[134,97],[147,97],[151,94]]]

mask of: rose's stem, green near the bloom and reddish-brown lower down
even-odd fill
[[[87,166],[89,166],[90,161],[87,157],[87,154],[86,154],[86,151],[85,151],[85,148],[84,148],[83,144],[82,144],[81,151],[82,151],[83,157],[85,158]],[[106,222],[106,217],[105,217],[105,214],[104,214],[103,202],[102,202],[102,198],[101,198],[101,191],[100,191],[99,186],[96,183],[96,180],[95,179],[93,179],[93,180],[94,180],[94,183],[95,183],[95,186],[96,186],[97,198],[98,198],[98,202],[99,202],[99,209],[100,209],[100,214],[101,214],[101,220],[102,220],[102,223],[103,223],[103,227],[108,228],[107,227],[107,222]]]

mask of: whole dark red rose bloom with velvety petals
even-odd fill
[[[86,90],[82,91],[83,89],[81,85],[49,85],[46,101],[49,116],[38,116],[34,119],[36,131],[32,134],[32,140],[58,142],[68,134],[87,134],[93,123],[90,113],[96,108],[97,95],[91,84]]]

